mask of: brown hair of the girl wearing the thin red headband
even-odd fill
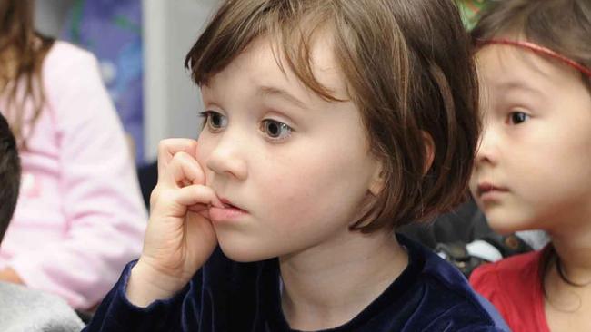
[[[472,30],[478,40],[502,34],[525,37],[527,41],[545,46],[558,54],[591,68],[591,1],[588,0],[511,0],[490,6]],[[477,49],[476,49],[477,51]],[[527,51],[524,51],[527,52]],[[591,77],[581,73],[582,83],[591,93]],[[544,296],[546,273],[556,265],[556,249],[548,244],[540,257],[538,270]],[[562,276],[560,276],[562,278]],[[564,280],[568,282],[567,280]]]

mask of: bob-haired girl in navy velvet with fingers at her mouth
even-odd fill
[[[225,1],[186,57],[205,128],[161,143],[142,256],[86,330],[504,330],[393,235],[466,189],[469,48],[452,1]]]

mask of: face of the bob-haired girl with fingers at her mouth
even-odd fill
[[[329,43],[316,43],[316,79],[346,98]],[[211,209],[231,259],[267,259],[345,243],[347,226],[379,190],[360,112],[330,103],[275,62],[260,39],[202,87],[197,161],[228,209]]]

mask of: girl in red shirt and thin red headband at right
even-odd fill
[[[591,330],[591,2],[499,2],[476,26],[486,128],[471,190],[499,232],[540,251],[476,269],[514,331]]]

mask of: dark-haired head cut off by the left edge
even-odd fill
[[[21,181],[21,162],[15,136],[0,114],[0,242],[15,212]]]

